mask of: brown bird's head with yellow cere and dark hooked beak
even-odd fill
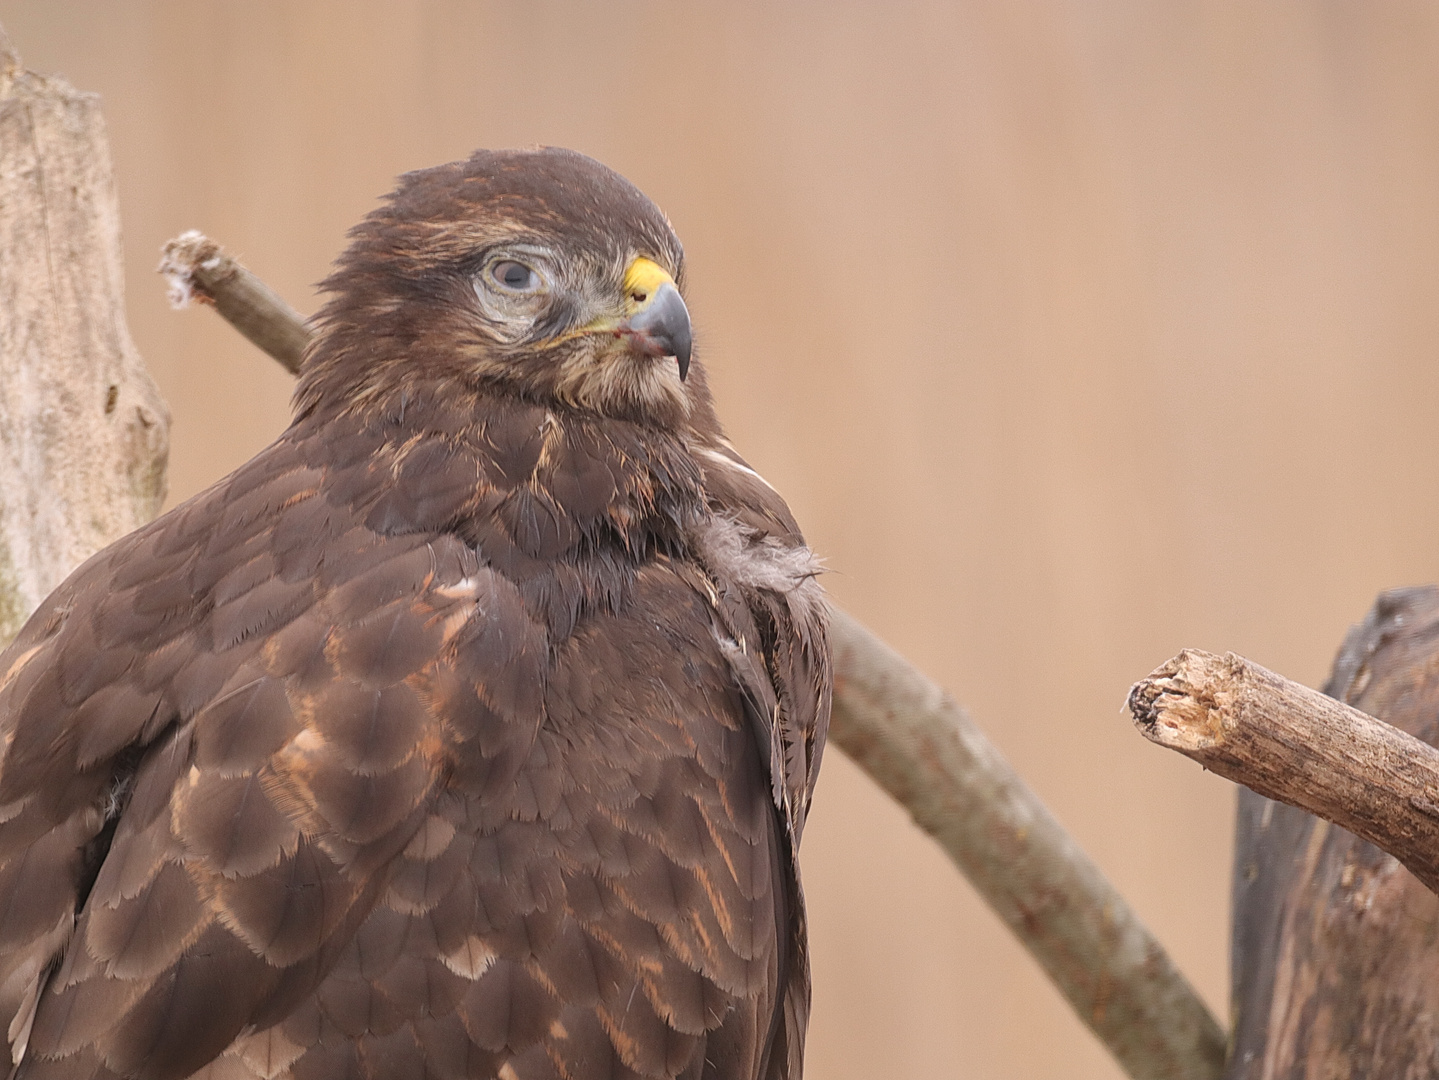
[[[478,151],[410,173],[324,283],[299,400],[460,381],[675,427],[702,397],[682,276],[659,209],[583,154]]]

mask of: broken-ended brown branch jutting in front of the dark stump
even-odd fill
[[[1135,683],[1145,738],[1381,847],[1439,892],[1439,751],[1242,656],[1186,650]]]

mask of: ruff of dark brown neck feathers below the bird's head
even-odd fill
[[[620,603],[646,559],[682,552],[705,516],[681,439],[509,397],[414,387],[312,410],[288,437],[322,444],[331,498],[368,528],[459,535],[558,637],[587,607]]]

